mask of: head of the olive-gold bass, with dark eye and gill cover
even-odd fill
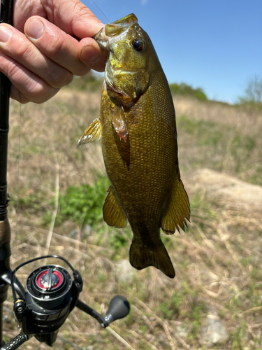
[[[105,84],[108,94],[123,103],[135,103],[150,87],[152,55],[157,57],[150,37],[138,25],[136,15],[105,25],[94,36],[108,56]]]

